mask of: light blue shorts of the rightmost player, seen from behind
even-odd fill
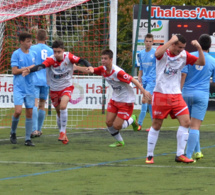
[[[209,93],[203,91],[184,91],[183,98],[187,103],[190,116],[203,121],[208,108]]]

